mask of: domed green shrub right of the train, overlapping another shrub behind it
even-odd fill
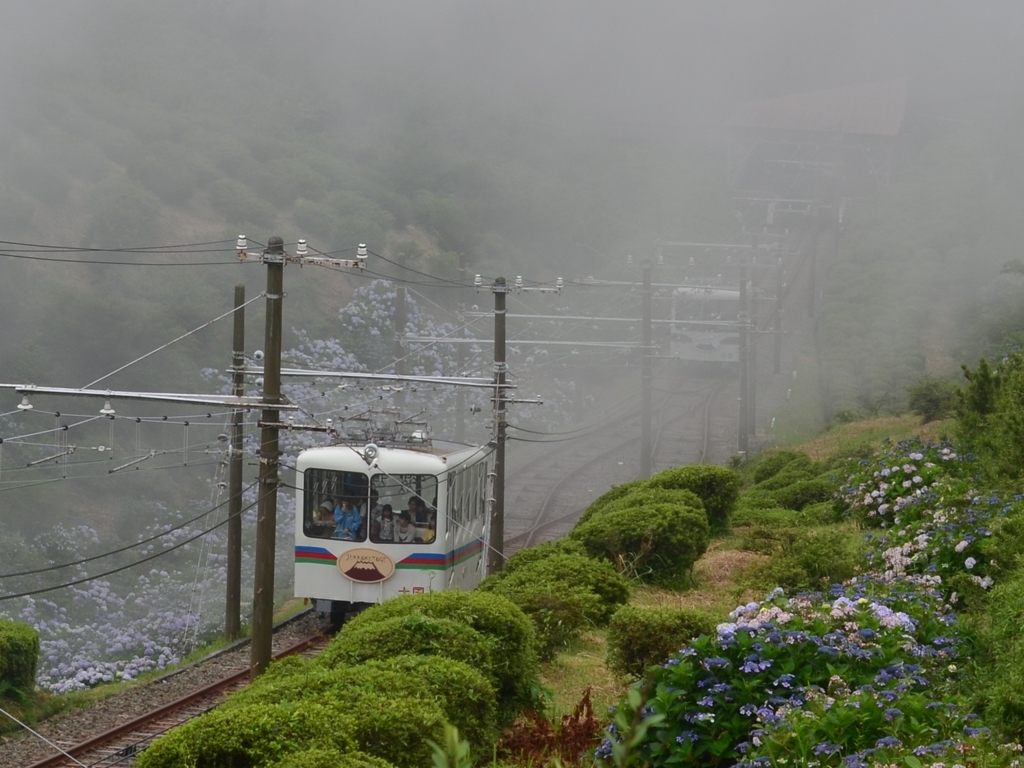
[[[598,515],[569,536],[626,575],[678,584],[708,549],[709,528],[699,510],[651,504]]]

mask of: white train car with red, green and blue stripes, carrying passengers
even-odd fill
[[[334,445],[298,458],[295,595],[341,622],[389,597],[476,587],[494,450]]]

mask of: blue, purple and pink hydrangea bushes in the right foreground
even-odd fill
[[[972,464],[916,442],[860,462],[837,505],[871,528],[866,574],[736,608],[638,683],[598,762],[646,718],[650,766],[1019,765],[955,693],[951,585],[992,585],[985,541],[1015,503],[977,490]]]

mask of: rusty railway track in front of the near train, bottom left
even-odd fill
[[[321,634],[310,634],[298,642],[279,649],[274,658],[302,653],[315,655],[327,646],[330,638]],[[209,659],[206,659],[209,660]],[[108,768],[109,766],[130,766],[135,758],[155,739],[171,728],[181,725],[205,712],[219,706],[233,691],[245,687],[249,682],[249,669],[245,658],[234,665],[233,672],[220,674],[213,682],[166,701],[142,715],[126,722],[121,722],[112,728],[86,740],[72,745],[56,741],[61,753],[32,763],[29,768],[63,768],[65,766],[90,766],[90,768]],[[52,748],[50,752],[52,752]],[[25,765],[22,763],[20,765]]]

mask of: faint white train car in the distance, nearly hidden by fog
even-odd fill
[[[670,353],[684,364],[733,368],[739,362],[739,290],[718,286],[677,288],[672,296]]]

